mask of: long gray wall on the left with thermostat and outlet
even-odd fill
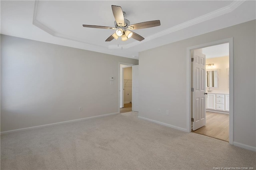
[[[1,35],[1,132],[117,113],[119,62],[138,64]]]

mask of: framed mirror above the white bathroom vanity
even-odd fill
[[[206,85],[214,88],[219,86],[219,69],[206,70]]]

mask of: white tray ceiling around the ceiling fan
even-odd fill
[[[105,40],[114,30],[111,5],[121,6],[130,24],[160,20],[134,30],[145,40]],[[138,53],[256,19],[255,1],[3,1],[1,34],[138,59]]]

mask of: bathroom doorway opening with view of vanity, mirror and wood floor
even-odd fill
[[[204,47],[196,51],[200,51],[205,56],[206,88],[203,89],[206,93],[203,96],[205,102],[202,102],[205,106],[202,108],[206,109],[204,113],[206,123],[197,128],[192,127],[192,132],[229,142],[229,43]],[[193,50],[192,53],[194,54],[195,51]],[[192,64],[192,75],[193,71]],[[192,84],[193,81],[192,78]],[[194,93],[192,99],[193,95]]]

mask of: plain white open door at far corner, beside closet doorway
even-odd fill
[[[132,111],[139,111],[139,65],[132,66]]]

